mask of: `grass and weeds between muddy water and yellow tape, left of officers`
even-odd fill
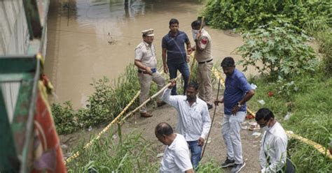
[[[70,101],[63,104],[53,103],[52,112],[57,133],[73,133],[81,128],[112,121],[139,91],[137,68],[130,64],[117,80],[110,81],[104,77],[93,80],[91,86],[95,91],[88,96],[86,107],[74,110]],[[151,88],[156,90],[155,86]],[[138,104],[136,100],[132,107],[137,107]]]

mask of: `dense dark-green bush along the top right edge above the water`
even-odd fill
[[[209,0],[202,15],[219,29],[256,29],[277,17],[302,28],[311,17],[324,16],[332,24],[332,2],[310,0]]]

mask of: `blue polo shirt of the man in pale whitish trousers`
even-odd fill
[[[244,74],[235,69],[232,75],[226,77],[225,87],[223,93],[224,112],[232,114],[232,108],[251,90],[251,86]],[[247,104],[244,104],[239,111],[246,112]]]

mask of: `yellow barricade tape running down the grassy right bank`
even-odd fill
[[[221,77],[221,72],[219,70],[217,70],[216,68],[212,67],[212,73],[214,74],[214,76],[216,76],[216,78],[220,79],[221,84],[223,85],[223,87],[225,87],[225,80],[223,80],[223,77]],[[254,112],[252,112],[251,110],[249,110],[248,108],[247,108],[247,112],[249,112],[249,114],[251,114],[252,116],[256,116],[256,114]],[[313,142],[312,140],[308,140],[304,137],[296,135],[291,131],[286,131],[286,134],[288,137],[295,138],[296,140],[300,140],[301,142],[314,147],[314,149],[317,149],[317,151],[319,151],[323,155],[327,156],[328,158],[332,159],[331,153],[329,153],[328,150],[324,146],[321,146],[321,144],[317,144],[316,142]]]

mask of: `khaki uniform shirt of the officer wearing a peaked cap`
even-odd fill
[[[135,48],[135,60],[141,61],[145,66],[149,68],[157,67],[157,59],[155,58],[155,47],[153,44],[148,45],[145,41],[142,41]],[[144,70],[144,69],[140,69]]]

